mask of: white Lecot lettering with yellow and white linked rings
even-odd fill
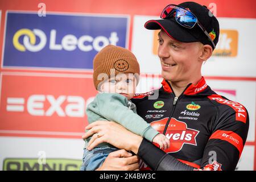
[[[23,36],[23,42],[20,43],[19,39]],[[36,39],[39,38],[39,43],[36,44]],[[77,38],[75,35],[67,34],[61,38],[61,43],[56,43],[57,31],[55,29],[50,31],[49,35],[49,49],[50,50],[65,50],[65,51],[74,51],[79,48],[80,51],[88,52],[100,51],[103,47],[108,44],[116,45],[118,42],[117,32],[111,32],[109,38],[106,36],[96,36],[93,38],[90,35],[82,35],[80,38]],[[13,36],[13,45],[14,47],[21,52],[31,51],[38,52],[41,51],[47,44],[47,36],[44,31],[40,29],[27,29],[22,28],[15,32]]]

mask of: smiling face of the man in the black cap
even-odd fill
[[[163,78],[168,81],[189,81],[201,74],[202,61],[199,57],[203,44],[179,42],[162,30],[158,36],[158,56]]]

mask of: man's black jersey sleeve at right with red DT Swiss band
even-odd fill
[[[244,108],[245,109],[245,108]],[[246,109],[245,109],[246,110]],[[204,169],[236,169],[249,130],[249,115],[238,121],[238,112],[220,109],[219,122],[204,149],[201,167]]]

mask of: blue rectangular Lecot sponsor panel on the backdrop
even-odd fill
[[[7,13],[3,67],[92,69],[108,44],[125,47],[128,18]]]

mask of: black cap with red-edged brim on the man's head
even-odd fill
[[[199,5],[195,2],[184,2],[178,6],[184,7],[196,15],[199,22],[203,25],[205,30],[213,37],[213,42],[218,43],[218,36],[220,34],[220,27],[216,17],[207,9],[206,6]],[[175,17],[170,19],[148,20],[144,27],[149,30],[163,29],[169,36],[178,40],[179,42],[201,42],[204,45],[209,44],[214,49],[207,35],[196,24],[193,28],[185,28],[176,22]]]

